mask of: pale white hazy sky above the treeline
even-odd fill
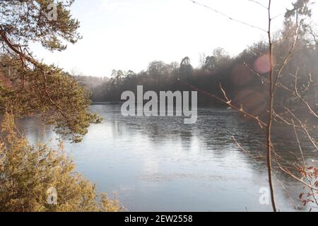
[[[267,28],[266,9],[252,1],[197,1]],[[268,4],[267,0],[259,2]],[[273,16],[285,12],[291,2],[273,0]],[[76,0],[71,12],[81,22],[83,40],[69,44],[64,52],[50,53],[38,46],[33,52],[47,63],[87,76],[110,76],[112,69],[139,72],[150,61],[179,62],[183,57],[190,57],[192,65],[198,66],[201,52],[211,54],[214,48],[223,47],[235,55],[266,38],[261,30],[228,20],[189,0]],[[276,18],[274,28],[279,28],[282,20],[283,16]]]

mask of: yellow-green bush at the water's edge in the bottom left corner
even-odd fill
[[[20,136],[13,116],[6,114],[0,136],[0,211],[120,211],[122,206],[74,172],[62,145],[34,147]],[[57,190],[57,204],[47,201],[48,189]],[[99,202],[97,200],[100,200]]]

